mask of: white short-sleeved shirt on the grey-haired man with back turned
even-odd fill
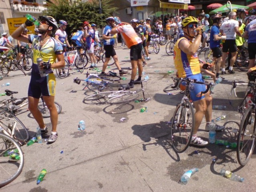
[[[224,21],[220,26],[220,29],[223,30],[223,33],[227,36],[226,39],[236,39],[235,27],[238,27],[239,23],[237,20],[230,19]]]

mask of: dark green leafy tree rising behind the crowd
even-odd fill
[[[100,28],[106,25],[105,18],[112,16],[112,13],[117,10],[111,0],[101,0],[102,13],[99,13],[99,0],[91,2],[82,2],[82,0],[51,0],[47,10],[43,15],[50,15],[59,20],[66,20],[68,26],[66,32],[68,36],[72,32],[77,31],[79,26],[83,26],[84,21],[90,24],[95,23]]]

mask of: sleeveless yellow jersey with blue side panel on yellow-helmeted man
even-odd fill
[[[185,78],[191,75],[199,74],[200,71],[200,63],[198,60],[197,54],[187,55],[181,49],[179,49],[178,44],[183,40],[188,40],[185,37],[179,38],[174,46],[174,65],[178,71],[179,78]],[[189,40],[188,40],[189,41]],[[189,41],[189,44],[192,44],[192,41]]]

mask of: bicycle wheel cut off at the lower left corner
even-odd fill
[[[16,159],[12,159],[8,154],[13,152],[12,150],[17,154]],[[13,138],[2,133],[0,133],[0,164],[0,188],[2,188],[16,179],[24,166],[24,155],[20,146]]]

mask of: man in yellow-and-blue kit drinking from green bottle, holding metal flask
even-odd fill
[[[42,114],[38,109],[38,102],[42,95],[44,102],[50,111],[50,121],[52,131],[47,140],[48,144],[56,141],[58,138],[57,124],[58,112],[54,104],[56,94],[56,80],[53,73],[54,68],[63,68],[65,60],[63,55],[62,45],[55,40],[52,35],[58,29],[56,20],[51,16],[40,16],[39,33],[41,36],[24,35],[22,34],[26,26],[32,26],[33,23],[26,20],[13,33],[12,37],[22,42],[31,43],[33,48],[33,64],[31,79],[28,87],[28,109],[35,118],[41,130],[42,136],[46,135],[48,128],[44,124]],[[42,58],[42,62],[37,64],[37,59]],[[44,75],[40,75],[40,70],[43,70]],[[36,126],[35,126],[36,128]]]

